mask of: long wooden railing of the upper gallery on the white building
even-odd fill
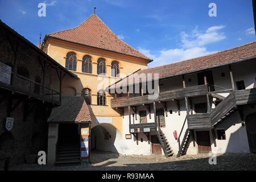
[[[191,86],[184,89],[176,89],[167,92],[160,92],[159,97],[152,100],[149,96],[139,96],[139,97],[118,97],[111,100],[111,106],[115,107],[127,107],[127,106],[137,106],[143,104],[152,104],[153,102],[159,101],[170,101],[173,99],[181,99],[184,97],[196,97],[207,94],[207,86]]]

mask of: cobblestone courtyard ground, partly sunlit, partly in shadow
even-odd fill
[[[224,154],[217,156],[217,164],[208,163],[208,155],[185,155],[165,158],[161,155],[123,156],[109,152],[94,151],[92,164],[82,162],[77,166],[39,166],[21,164],[10,170],[256,170],[256,154]]]

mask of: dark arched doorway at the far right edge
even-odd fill
[[[246,117],[245,125],[250,151],[256,153],[256,113]]]

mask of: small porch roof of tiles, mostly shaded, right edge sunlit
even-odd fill
[[[90,122],[90,111],[82,97],[71,97],[63,105],[54,107],[48,118],[51,123]]]

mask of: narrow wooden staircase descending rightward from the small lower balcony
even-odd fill
[[[167,141],[166,137],[164,136],[163,131],[160,129],[159,123],[156,122],[156,134],[158,135],[159,142],[163,148],[164,155],[166,158],[174,155],[174,152],[172,152],[172,148],[170,146],[170,143]]]

